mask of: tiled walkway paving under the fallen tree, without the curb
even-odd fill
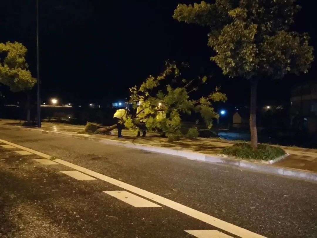
[[[19,126],[18,120],[1,119],[0,124]],[[34,128],[37,129],[37,128]],[[70,125],[64,123],[50,123],[43,122],[41,130],[50,132],[61,132],[67,134],[78,134],[84,129],[81,125]],[[217,155],[225,147],[233,145],[234,141],[226,141],[221,139],[198,138],[197,140],[182,139],[178,142],[167,142],[166,138],[162,138],[154,133],[147,133],[145,138],[136,137],[135,134],[129,130],[123,130],[124,138],[117,138],[116,129],[111,132],[111,135],[92,135],[97,138],[105,138],[112,140],[120,140],[125,142],[133,142],[139,144],[152,145],[156,147],[164,147],[169,149],[186,150],[203,154]],[[274,163],[275,166],[303,169],[317,172],[317,150],[305,149],[299,147],[282,147],[290,155]]]

